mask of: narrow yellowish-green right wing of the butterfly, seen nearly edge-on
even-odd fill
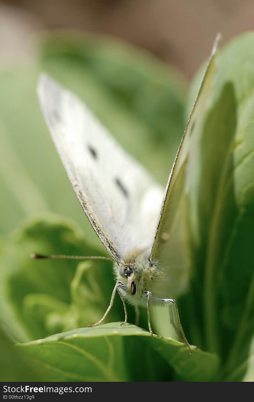
[[[151,261],[157,261],[164,273],[163,294],[161,285],[152,293],[158,297],[175,297],[182,293],[187,285],[189,272],[188,258],[188,220],[187,193],[191,193],[189,202],[195,197],[194,188],[188,188],[188,176],[198,180],[195,162],[199,152],[200,135],[206,112],[211,103],[211,89],[215,75],[215,53],[219,35],[217,36],[209,61],[199,86],[187,127],[183,134],[171,174],[167,183],[161,214],[158,220],[156,235],[152,246]],[[196,175],[196,176],[195,176]],[[192,180],[193,183],[193,180]],[[191,209],[195,207],[192,203]],[[198,241],[197,213],[192,210],[191,226],[194,228],[193,238]]]

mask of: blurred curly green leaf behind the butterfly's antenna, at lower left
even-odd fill
[[[45,216],[16,230],[0,259],[0,315],[14,338],[22,342],[42,338],[102,318],[115,285],[110,261],[34,260],[32,252],[106,255],[89,246],[81,231],[61,217]],[[146,328],[143,310],[141,324]],[[105,322],[114,320],[124,320],[118,295]],[[128,320],[135,320],[131,306]]]

